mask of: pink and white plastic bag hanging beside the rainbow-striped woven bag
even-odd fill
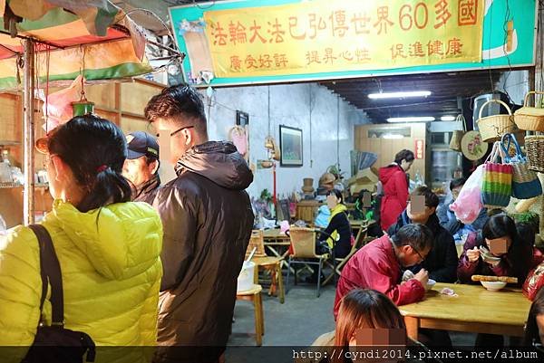
[[[483,165],[476,170],[462,186],[459,196],[450,206],[457,219],[463,224],[471,224],[480,215],[483,204],[481,203],[481,181],[483,180]]]

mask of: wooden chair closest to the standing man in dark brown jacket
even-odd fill
[[[283,304],[286,300],[283,276],[281,274],[281,262],[283,259],[280,257],[267,256],[267,253],[265,253],[265,239],[263,231],[261,230],[253,230],[251,233],[248,250],[246,250],[246,258],[248,258],[249,253],[251,253],[254,248],[257,248],[257,251],[251,261],[256,264],[256,275],[258,276],[258,272],[261,269],[270,273],[270,288],[268,289],[268,295],[277,296],[279,292],[279,302]]]

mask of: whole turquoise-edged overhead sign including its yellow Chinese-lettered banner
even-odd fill
[[[173,7],[170,18],[189,55],[186,80],[233,85],[528,66],[536,8],[536,0],[239,0]]]

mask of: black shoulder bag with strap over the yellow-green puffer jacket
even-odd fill
[[[34,343],[22,363],[82,363],[85,354],[86,361],[93,362],[96,352],[91,337],[82,331],[64,329],[63,277],[51,236],[40,224],[32,224],[29,227],[38,237],[40,245],[42,275],[40,311],[44,307],[49,282],[53,317],[50,327],[45,326],[44,321],[40,320]]]

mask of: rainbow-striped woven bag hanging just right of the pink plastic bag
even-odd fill
[[[481,184],[481,201],[487,208],[502,208],[510,203],[512,194],[513,167],[502,164],[500,156],[500,141],[493,144],[490,156],[483,166],[483,182]]]

